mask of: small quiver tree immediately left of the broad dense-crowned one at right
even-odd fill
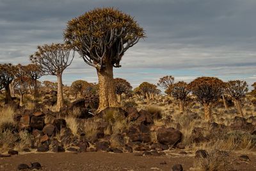
[[[171,85],[168,89],[170,89],[170,95],[179,101],[180,112],[184,112],[184,102],[186,101],[186,98],[188,98],[188,94],[190,92],[188,84],[180,81]]]

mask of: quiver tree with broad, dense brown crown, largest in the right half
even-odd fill
[[[215,77],[198,77],[188,84],[188,89],[204,105],[205,120],[211,119],[212,104],[220,98],[224,83]]]

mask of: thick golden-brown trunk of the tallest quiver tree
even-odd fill
[[[105,68],[97,70],[97,75],[99,78],[99,107],[97,112],[107,107],[119,107],[114,88],[112,64],[106,63]]]

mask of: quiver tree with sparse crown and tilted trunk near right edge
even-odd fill
[[[241,80],[230,80],[227,83],[227,88],[225,89],[227,94],[232,97],[237,108],[237,112],[243,116],[243,110],[241,105],[241,99],[245,97],[248,91],[248,85],[245,81]]]

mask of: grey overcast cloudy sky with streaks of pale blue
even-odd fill
[[[133,87],[165,75],[256,82],[255,0],[0,0],[0,63],[30,63],[37,45],[61,43],[68,20],[95,7],[129,13],[146,31],[114,69]],[[63,82],[77,79],[97,82],[95,68],[78,56]]]

